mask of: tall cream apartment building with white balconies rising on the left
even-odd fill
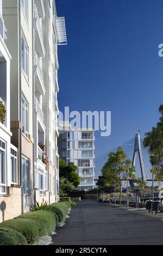
[[[65,19],[57,16],[55,1],[1,0],[0,3],[4,19],[4,22],[0,19],[0,29],[2,20],[7,28],[3,36],[7,35],[5,43],[12,57],[10,72],[6,47],[8,81],[4,88],[8,93],[5,95],[0,89],[0,95],[7,109],[5,123],[9,142],[11,137],[16,176],[12,184],[7,184],[13,193],[6,190],[3,197],[0,194],[0,203],[5,202],[5,214],[9,212],[7,218],[12,218],[29,211],[35,202],[53,203],[59,199],[58,46],[67,41]],[[0,72],[4,74],[1,64]],[[11,180],[10,163],[6,172]]]

